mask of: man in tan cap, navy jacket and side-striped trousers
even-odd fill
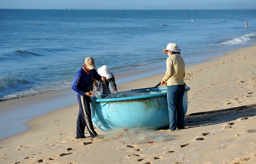
[[[95,68],[94,59],[87,57],[82,68],[76,72],[72,83],[72,89],[76,91],[79,103],[79,113],[76,121],[76,138],[78,139],[85,138],[85,127],[87,127],[92,138],[98,136],[92,124],[90,97],[93,95],[93,79],[104,81],[106,77],[100,76]]]

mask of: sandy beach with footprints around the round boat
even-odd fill
[[[131,129],[76,139],[78,104],[27,123],[30,130],[0,141],[1,164],[255,164],[256,46],[186,67],[185,129]],[[118,91],[153,87],[162,74],[118,85]],[[195,114],[204,111],[228,111]],[[138,132],[139,131],[139,132]],[[137,133],[138,138],[131,135]],[[121,137],[118,137],[122,135]]]

